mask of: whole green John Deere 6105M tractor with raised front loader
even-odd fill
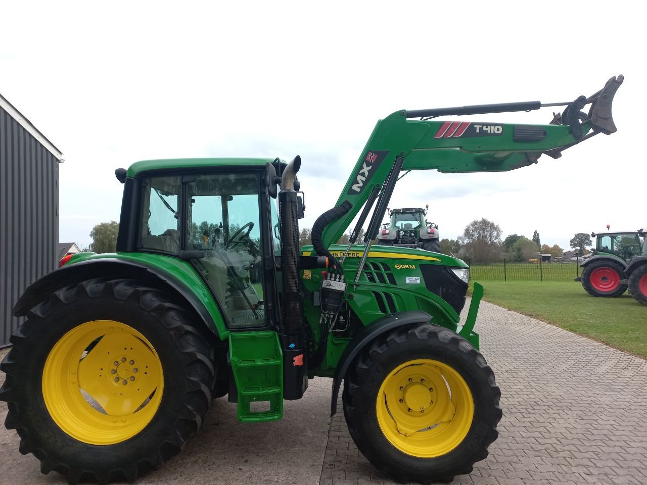
[[[565,103],[549,125],[433,119],[540,102],[389,115],[301,251],[298,156],[118,169],[116,252],[72,255],[14,307],[27,321],[1,364],[5,426],[43,473],[71,484],[135,480],[181,451],[215,398],[237,403],[241,422],[278,420],[284,400],[325,376],[331,413],[343,382],[351,436],[378,469],[422,482],[470,473],[501,419],[474,332],[483,288],[474,284],[461,321],[467,264],[418,248],[374,250],[371,241],[403,174],[509,171],[542,153],[556,158],[616,131],[611,101],[621,83],[611,78]],[[349,244],[333,245],[356,216]]]

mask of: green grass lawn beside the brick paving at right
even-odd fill
[[[647,307],[628,293],[593,297],[576,281],[484,281],[483,287],[485,301],[647,358]]]

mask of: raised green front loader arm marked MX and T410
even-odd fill
[[[371,193],[384,188],[396,160],[402,170],[437,170],[443,173],[509,171],[536,163],[542,154],[558,158],[562,151],[597,133],[616,131],[611,117],[613,96],[624,80],[620,75],[603,89],[571,103],[525,102],[477,105],[417,111],[397,111],[378,121],[351,172],[336,206],[351,209],[328,224],[322,242],[334,244],[359,213]],[[590,104],[589,112],[581,110]],[[436,116],[530,111],[565,105],[548,125],[492,122],[437,121]],[[420,118],[413,120],[411,118]],[[397,175],[397,174],[396,174]],[[375,194],[374,194],[375,195]],[[371,198],[373,202],[374,197]]]

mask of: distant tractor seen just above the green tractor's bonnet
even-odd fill
[[[391,220],[382,224],[381,230],[377,233],[377,244],[440,252],[441,240],[438,226],[424,219],[429,210],[429,204],[424,207],[424,209],[387,209]]]

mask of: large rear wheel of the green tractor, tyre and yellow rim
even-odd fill
[[[213,350],[192,314],[137,281],[62,288],[30,310],[11,342],[0,365],[5,426],[43,473],[71,484],[132,481],[159,468],[212,401]]]

